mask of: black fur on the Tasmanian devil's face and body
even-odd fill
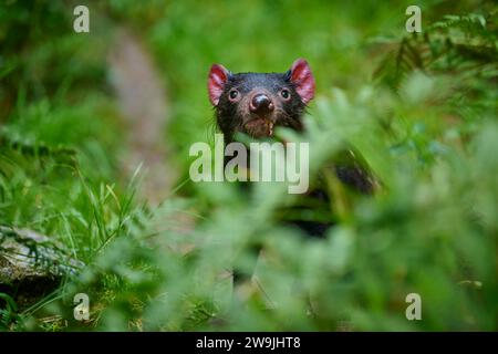
[[[234,88],[240,94],[237,102],[229,97],[230,91]],[[282,97],[281,92],[283,88],[290,92],[289,100]],[[246,124],[251,119],[258,118],[249,110],[248,104],[250,95],[255,95],[257,92],[264,92],[274,103],[274,110],[270,117],[274,126],[287,126],[299,132],[303,129],[301,119],[307,105],[298,94],[295,84],[291,81],[291,71],[286,73],[228,73],[222,93],[219,96],[218,104],[215,106],[217,124],[224,133],[226,144],[234,142],[237,132],[253,135],[251,134],[253,132],[248,129]],[[356,162],[341,163],[341,165],[333,164],[332,168],[338,178],[352,189],[361,194],[371,194],[373,191],[373,179]],[[249,184],[242,184],[242,188],[246,192],[250,192]],[[303,198],[312,198],[319,204],[330,204],[329,195],[323,189],[310,190]],[[294,206],[293,209],[302,210],[299,206]],[[282,220],[282,222],[303,230],[310,237],[323,237],[333,225],[332,221],[309,220]],[[259,250],[260,246],[252,244],[251,251],[259,252]],[[235,282],[239,282],[250,275],[237,270],[234,271]]]

